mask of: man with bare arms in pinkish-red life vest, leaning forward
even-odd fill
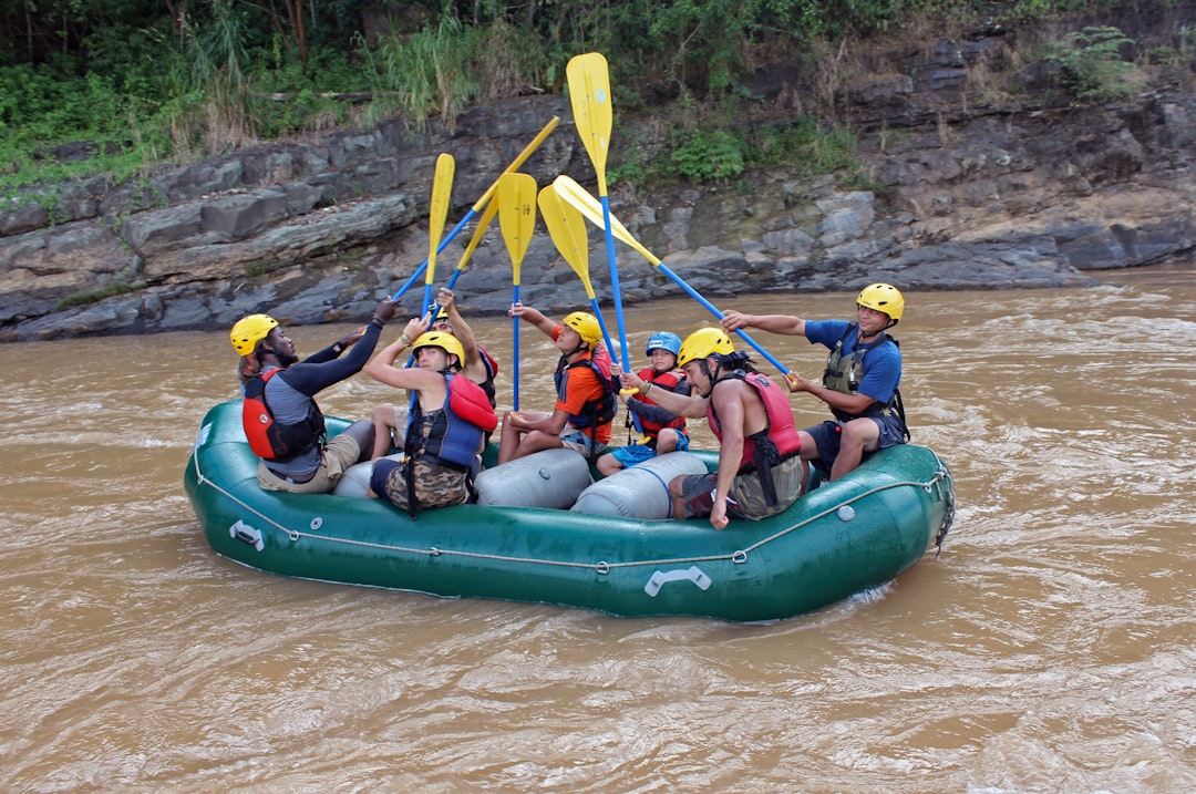
[[[688,397],[658,393],[639,375],[623,375],[624,385],[651,391],[682,416],[706,416],[719,439],[718,471],[670,481],[673,515],[709,515],[722,530],[732,518],[756,521],[795,502],[804,464],[788,393],[757,372],[748,354],[737,353],[721,328],[690,334],[677,362],[692,387]]]

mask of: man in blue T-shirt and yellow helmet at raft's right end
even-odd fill
[[[789,391],[810,392],[826,403],[834,420],[801,430],[801,458],[813,463],[828,481],[860,465],[865,452],[909,440],[901,404],[901,348],[885,331],[904,312],[905,299],[896,287],[874,283],[855,299],[856,322],[805,320],[788,314],[724,313],[722,328],[759,328],[774,334],[805,336],[830,349],[822,384],[791,372]]]

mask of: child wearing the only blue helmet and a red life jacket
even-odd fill
[[[671,391],[677,395],[689,395],[689,381],[685,373],[677,368],[677,354],[681,353],[681,337],[670,331],[657,331],[648,338],[643,354],[651,366],[639,371],[639,377],[647,381],[648,393],[657,390]],[[615,377],[622,374],[617,366]],[[685,417],[678,416],[661,407],[647,393],[624,396],[628,410],[628,427],[631,416],[640,438],[634,444],[616,447],[598,458],[598,471],[610,476],[627,466],[643,463],[658,454],[667,452],[685,452],[689,450],[689,435],[685,433]]]

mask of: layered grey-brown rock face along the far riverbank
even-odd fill
[[[994,106],[968,90],[968,71],[1005,47],[993,32],[963,45],[933,42],[907,53],[902,73],[840,92],[838,112],[877,190],[775,170],[736,185],[616,185],[611,210],[669,273],[710,299],[872,281],[1082,286],[1092,283],[1086,269],[1189,254],[1196,97],[1177,90],[1072,108],[1046,93],[1033,106]],[[771,102],[767,123],[797,115],[781,106],[795,72],[779,65],[753,86]],[[0,212],[0,340],[227,328],[255,311],[288,324],[367,317],[427,257],[435,157],[457,159],[447,232],[553,116],[562,123],[523,170],[539,185],[568,173],[593,190],[568,100],[547,96],[476,108],[452,130],[340,130],[140,183],[91,179],[30,194]],[[617,118],[609,167],[633,147],[640,161],[659,155],[667,133],[651,118]],[[439,256],[438,283],[472,231]],[[605,243],[596,230],[590,240],[602,300],[610,295]],[[616,249],[624,303],[681,294],[660,268]],[[523,300],[544,311],[585,301],[542,224],[520,276]],[[422,283],[408,291],[404,311],[417,310]],[[468,312],[509,304],[511,261],[496,222],[458,293]]]

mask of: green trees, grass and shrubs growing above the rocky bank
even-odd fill
[[[617,109],[663,94],[681,109],[672,149],[622,165],[615,179],[734,181],[777,164],[850,175],[850,132],[810,114],[835,118],[834,88],[869,37],[901,36],[928,17],[958,29],[994,8],[1017,24],[1131,2],[13,0],[0,4],[0,194],[83,176],[122,181],[337,124],[451,126],[470,103],[563,91],[569,56],[591,50],[611,63]],[[1174,63],[1192,41],[1184,29],[1143,57]],[[1048,57],[1076,102],[1105,100],[1141,86],[1125,43],[1116,29],[1085,29]],[[806,54],[825,106],[749,140],[736,122],[758,98],[744,78],[793,53]]]

